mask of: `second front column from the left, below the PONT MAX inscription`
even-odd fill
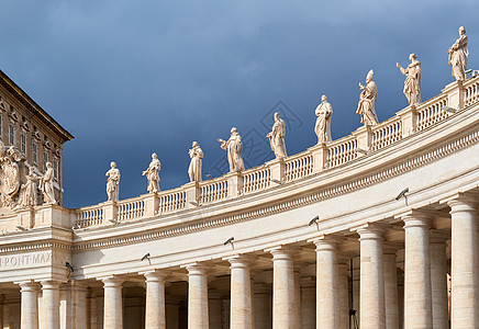
[[[42,281],[43,311],[45,329],[59,328],[59,286],[62,282],[55,280]]]

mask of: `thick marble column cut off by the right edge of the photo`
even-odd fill
[[[461,195],[448,202],[452,217],[452,309],[454,329],[479,324],[477,202]]]

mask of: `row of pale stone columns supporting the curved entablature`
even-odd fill
[[[450,214],[449,230],[432,227],[434,214],[410,211],[398,216],[403,241],[387,241],[391,225],[365,224],[350,229],[348,240],[357,237],[359,254],[359,292],[350,283],[350,251],[342,249],[345,237],[320,236],[303,241],[315,247],[315,279],[301,277],[296,256],[297,246],[281,245],[266,249],[271,257],[272,292],[268,285],[253,280],[254,257],[227,257],[230,266],[230,328],[352,328],[349,315],[352,287],[359,298],[358,322],[361,329],[448,328],[446,241],[450,240],[452,328],[476,328],[479,324],[479,259],[476,198],[461,195],[446,202]],[[396,226],[396,229],[401,226]],[[357,234],[357,235],[356,235]],[[398,247],[399,246],[399,247]],[[397,250],[404,249],[404,297],[398,292]],[[210,266],[192,263],[188,273],[188,328],[222,328],[221,296],[209,292]],[[178,308],[169,311],[165,290],[167,273],[163,270],[144,275],[144,327],[180,328]],[[124,326],[123,276],[101,277],[103,303],[91,298],[87,306],[87,286],[71,284],[71,328],[100,328],[91,309],[102,308],[102,327]],[[353,277],[353,280],[355,280]],[[21,294],[21,328],[64,328],[60,316],[59,281],[16,282]],[[40,294],[42,298],[38,298]],[[403,319],[400,319],[403,303]],[[4,304],[4,302],[3,302]],[[4,311],[1,313],[4,319]],[[100,313],[97,313],[97,315]],[[0,317],[1,318],[1,317]],[[97,316],[98,318],[98,316]],[[167,326],[167,322],[169,324]],[[174,325],[171,325],[174,324]],[[70,327],[68,327],[70,328]]]

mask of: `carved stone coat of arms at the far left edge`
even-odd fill
[[[16,206],[16,197],[20,191],[20,161],[25,158],[13,146],[5,148],[0,141],[0,193],[1,203],[4,207]]]

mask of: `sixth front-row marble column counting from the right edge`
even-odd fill
[[[227,259],[231,264],[231,329],[253,328],[250,261],[247,257]]]

